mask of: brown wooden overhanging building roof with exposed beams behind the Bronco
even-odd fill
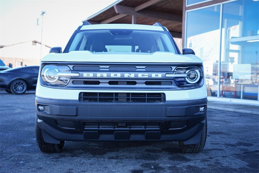
[[[160,22],[173,37],[182,38],[185,0],[119,0],[84,21],[91,24],[142,24]]]

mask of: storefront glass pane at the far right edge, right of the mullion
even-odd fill
[[[259,100],[259,2],[223,4],[221,97]]]

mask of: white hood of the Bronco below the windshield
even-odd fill
[[[197,56],[179,55],[171,52],[97,52],[71,51],[49,53],[41,61],[57,62],[135,62],[135,63],[203,63]]]

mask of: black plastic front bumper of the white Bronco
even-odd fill
[[[164,103],[82,103],[36,97],[45,142],[200,141],[207,99]],[[39,105],[45,106],[39,111]],[[204,106],[205,111],[199,112]]]

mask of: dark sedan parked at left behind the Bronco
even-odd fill
[[[0,71],[0,88],[14,94],[24,94],[35,90],[38,80],[39,66],[10,68]]]

